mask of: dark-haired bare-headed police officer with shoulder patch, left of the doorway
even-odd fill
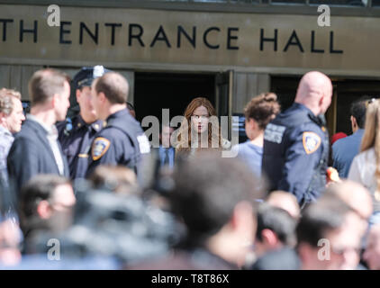
[[[99,165],[122,165],[133,169],[140,178],[142,155],[148,154],[150,148],[140,123],[127,109],[128,91],[128,82],[119,73],[106,73],[93,82],[92,103],[106,125],[95,135],[86,176]]]

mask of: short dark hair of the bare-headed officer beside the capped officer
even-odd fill
[[[129,85],[127,79],[117,72],[105,73],[95,79],[96,94],[104,93],[110,103],[127,103]]]

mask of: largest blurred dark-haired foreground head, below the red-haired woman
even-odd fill
[[[204,247],[241,266],[255,235],[252,202],[261,196],[249,168],[204,152],[179,161],[174,179],[172,205],[187,228],[185,247]]]

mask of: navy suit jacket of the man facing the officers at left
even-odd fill
[[[9,179],[14,183],[16,193],[23,184],[38,174],[59,175],[59,167],[50,148],[48,132],[36,121],[26,120],[22,130],[14,137],[14,143],[7,157]],[[68,160],[62,153],[64,176],[69,176]]]

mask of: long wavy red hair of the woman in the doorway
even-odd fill
[[[176,135],[176,151],[189,151],[191,149],[192,139],[196,137],[195,133],[197,130],[192,126],[191,117],[196,108],[204,106],[209,113],[209,116],[216,116],[215,109],[213,108],[213,104],[204,97],[197,97],[190,102],[185,109],[185,119],[181,123],[181,127],[179,128],[178,134]],[[217,129],[213,127],[213,125],[218,125]],[[214,130],[217,130],[215,135]],[[187,139],[182,139],[182,136],[187,133]],[[222,137],[221,137],[221,128],[217,121],[209,121],[208,123],[208,146],[211,148],[211,144],[217,140],[218,147],[221,147]]]

